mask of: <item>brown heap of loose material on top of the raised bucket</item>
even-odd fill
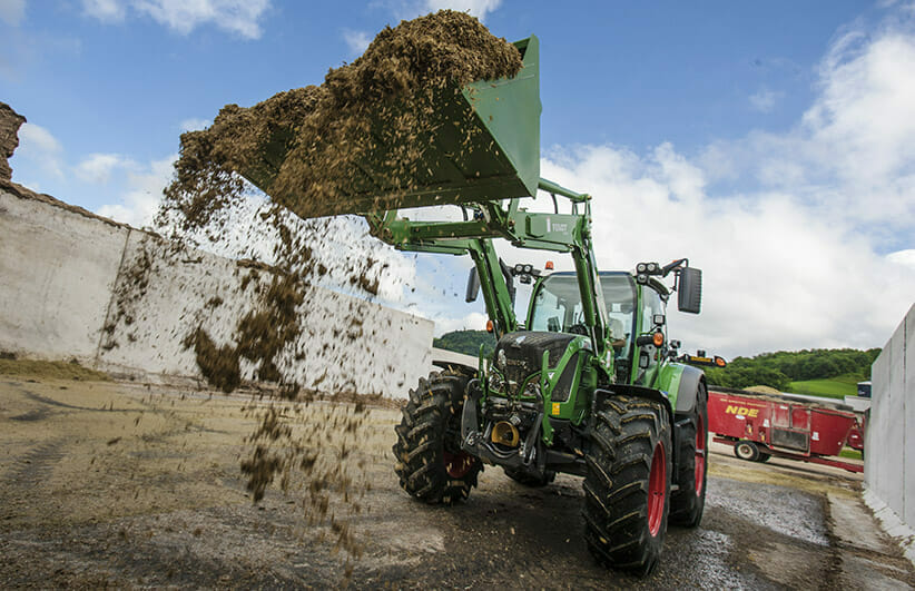
[[[433,131],[427,115],[435,92],[520,69],[513,45],[462,12],[442,10],[385,28],[352,65],[327,72],[323,85],[250,108],[227,105],[208,129],[183,135],[166,206],[190,225],[206,224],[242,194],[233,173],[243,173],[266,179],[262,188],[308,217],[322,200],[347,199],[347,184],[377,141],[391,152],[373,170],[381,177],[375,181],[409,190],[424,148],[417,140]]]

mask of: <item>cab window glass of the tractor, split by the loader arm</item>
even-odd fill
[[[628,356],[633,334],[636,286],[628,273],[601,273],[607,324],[613,348]],[[531,302],[530,331],[587,334],[578,280],[573,274],[553,274],[540,284]]]

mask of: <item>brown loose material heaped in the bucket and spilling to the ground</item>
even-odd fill
[[[257,501],[274,481],[287,490],[294,476],[304,480],[306,518],[325,523],[351,556],[361,550],[343,515],[360,511],[358,489],[366,483],[354,471],[360,472],[362,461],[347,461],[352,445],[331,446],[327,441],[329,433],[357,437],[364,405],[357,403],[333,424],[301,429],[303,408],[318,393],[293,377],[297,359],[288,352],[302,337],[297,311],[307,309],[309,287],[328,273],[328,263],[315,256],[314,248],[327,239],[327,220],[303,220],[288,209],[307,214],[321,200],[345,199],[342,179],[352,178],[380,124],[384,141],[395,147],[385,162],[387,180],[411,188],[422,150],[416,140],[431,131],[423,110],[431,108],[432,95],[514,76],[520,68],[514,46],[469,14],[442,10],[385,28],[362,57],[332,69],[321,86],[279,92],[249,108],[228,105],[208,129],[181,136],[174,180],[157,217],[157,225],[178,244],[218,245],[230,234],[230,213],[244,209],[249,193],[239,173],[268,174],[268,193],[283,196],[258,216],[276,237],[272,282],[258,288],[253,309],[235,318],[229,343],[215,342],[203,325],[195,325],[187,327],[185,346],[195,352],[205,378],[226,393],[240,385],[244,365],[254,366],[258,380],[277,384],[268,404],[258,400],[246,405],[258,421],[242,461],[248,489]],[[285,155],[282,161],[269,156],[277,146]],[[343,283],[376,295],[384,267],[372,257],[348,260]],[[360,319],[334,322],[345,326]]]

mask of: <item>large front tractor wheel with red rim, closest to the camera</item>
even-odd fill
[[[638,575],[658,564],[667,533],[670,422],[659,403],[608,397],[584,461],[584,538],[607,567]]]

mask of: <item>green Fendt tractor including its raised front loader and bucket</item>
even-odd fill
[[[498,344],[475,366],[437,364],[443,371],[411,391],[394,445],[407,493],[453,504],[484,464],[531,486],[557,473],[583,476],[589,549],[603,564],[645,574],[658,563],[668,521],[695,526],[702,516],[706,383],[701,371],[673,361],[666,322],[675,289],[681,311],[699,312],[701,273],[686,259],[642,263],[634,273],[598,269],[591,196],[540,178],[538,40],[515,46],[524,63],[518,76],[436,92],[426,114],[435,131],[423,138],[410,166],[422,173],[409,184],[383,180],[394,150],[377,141],[381,134],[357,162],[352,193],[333,203],[303,208],[301,196],[273,190],[283,141],[240,173],[303,217],[357,213],[401,250],[473,260],[469,298],[482,290]],[[523,207],[538,190],[551,196],[552,213]],[[459,207],[461,219],[417,221],[401,210],[445,205]],[[495,239],[568,253],[574,272],[509,267]],[[533,283],[523,323],[515,278]]]

